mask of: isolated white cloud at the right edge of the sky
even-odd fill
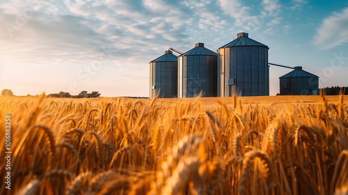
[[[314,44],[322,49],[331,49],[348,42],[348,8],[332,13],[324,19],[317,30]]]

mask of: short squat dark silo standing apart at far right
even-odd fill
[[[280,95],[318,95],[319,77],[302,70],[301,66],[279,79]]]

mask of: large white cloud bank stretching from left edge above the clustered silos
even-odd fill
[[[132,54],[125,49],[136,49],[141,57],[152,58],[157,56],[154,51],[167,47],[189,49],[200,39],[226,36],[226,31],[253,33],[266,26],[266,22],[269,26],[280,24],[280,17],[265,19],[267,14],[277,13],[276,0],[262,1],[262,6],[265,6],[262,15],[251,15],[251,8],[240,0],[38,2],[33,0],[27,4],[24,0],[13,0],[0,3],[2,24],[15,21],[13,13],[18,13],[18,10],[27,6],[35,8],[34,16],[14,32],[12,40],[8,40],[6,29],[5,32],[0,30],[1,47],[7,48],[6,54],[19,56],[16,61],[52,64],[51,56],[58,55],[65,61],[81,64],[100,54],[100,48],[106,45],[118,48],[115,52],[117,59],[131,57]],[[226,15],[221,15],[221,9]],[[232,25],[230,17],[235,18]],[[23,48],[29,47],[31,49],[23,52]]]

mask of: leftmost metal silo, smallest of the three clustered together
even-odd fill
[[[177,56],[167,50],[150,62],[150,98],[177,97]]]

